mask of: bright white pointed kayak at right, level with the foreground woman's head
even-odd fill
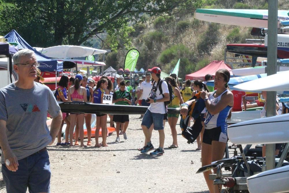
[[[258,78],[233,87],[243,91],[289,91],[289,71]]]

